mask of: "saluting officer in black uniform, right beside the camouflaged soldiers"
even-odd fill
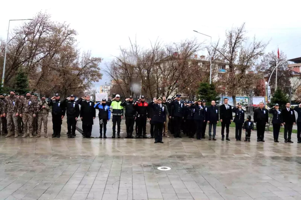
[[[61,137],[61,125],[62,125],[62,120],[65,115],[65,110],[62,109],[62,101],[60,99],[60,95],[58,93],[55,94],[54,97],[52,97],[48,101],[48,106],[52,106],[51,110],[51,115],[52,115],[52,129],[53,129],[53,134],[52,138],[60,138]]]

